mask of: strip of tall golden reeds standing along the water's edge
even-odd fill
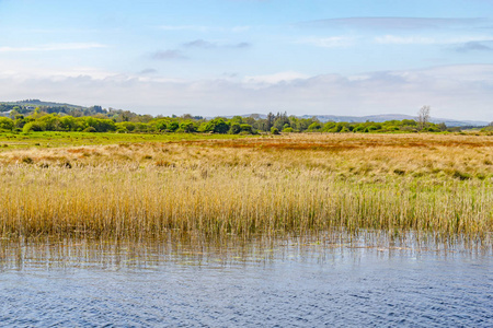
[[[170,230],[251,235],[344,227],[433,231],[483,237],[491,232],[490,184],[359,184],[323,172],[209,168],[0,169],[3,235],[152,236]],[[5,175],[8,177],[5,177]]]

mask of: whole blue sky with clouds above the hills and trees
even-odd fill
[[[493,121],[493,0],[0,0],[0,101]]]

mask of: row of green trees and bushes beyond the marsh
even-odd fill
[[[98,108],[100,109],[100,108]],[[106,109],[104,109],[106,110]],[[12,113],[11,113],[12,114]],[[130,115],[131,114],[131,115]],[[126,116],[127,115],[127,116]],[[13,117],[12,117],[13,116]],[[270,113],[232,118],[183,115],[152,117],[131,112],[118,112],[112,117],[106,113],[91,116],[71,116],[64,113],[47,113],[36,108],[31,115],[14,113],[11,117],[0,117],[0,130],[13,132],[32,131],[84,131],[84,132],[203,132],[255,134],[262,132],[442,132],[451,131],[445,124],[420,122],[413,119],[388,120],[385,122],[322,122],[317,117],[300,118],[286,113]]]

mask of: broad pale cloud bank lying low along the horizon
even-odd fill
[[[244,79],[173,81],[153,75],[31,77],[0,74],[0,99],[42,98],[100,104],[150,114],[414,115],[423,104],[436,117],[493,120],[493,65],[435,67],[344,77],[297,72]]]

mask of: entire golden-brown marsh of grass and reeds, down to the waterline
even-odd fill
[[[383,230],[491,242],[493,139],[297,134],[0,153],[0,234]]]

